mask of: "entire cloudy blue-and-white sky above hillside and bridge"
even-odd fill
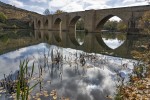
[[[56,10],[65,12],[89,9],[107,9],[127,6],[147,5],[145,0],[0,0],[13,6],[43,14],[45,9],[51,13]],[[149,0],[150,1],[150,0]]]

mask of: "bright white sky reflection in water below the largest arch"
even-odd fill
[[[117,38],[116,39],[102,38],[102,39],[105,42],[105,44],[112,49],[116,49],[117,47],[121,46],[124,43],[124,41],[118,40]]]

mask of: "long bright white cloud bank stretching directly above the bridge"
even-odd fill
[[[147,4],[147,2],[136,2],[135,0],[114,1],[113,4],[110,4],[111,1],[114,0],[51,0],[49,1],[49,9],[52,11],[60,9],[66,12],[74,12],[89,9],[105,9]]]

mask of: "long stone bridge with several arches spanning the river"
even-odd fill
[[[71,13],[64,12],[33,18],[31,24],[34,25],[34,29],[74,32],[76,22],[79,18],[82,18],[84,20],[84,28],[87,32],[99,32],[100,28],[109,18],[118,16],[124,21],[129,30],[134,30],[138,28],[138,20],[148,10],[150,10],[150,5],[86,10]]]

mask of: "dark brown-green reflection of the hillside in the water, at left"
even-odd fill
[[[32,31],[29,30],[5,30],[0,31],[0,54],[17,48],[35,44]]]

